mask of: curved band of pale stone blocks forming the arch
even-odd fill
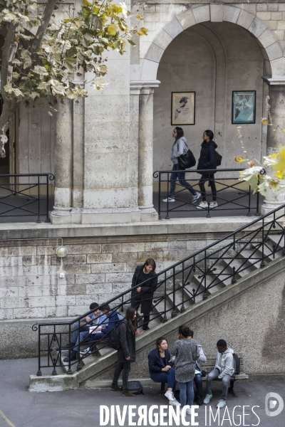
[[[227,21],[245,28],[254,36],[264,56],[266,77],[283,75],[285,58],[279,41],[270,28],[244,9],[229,4],[192,5],[190,9],[175,16],[167,23],[150,44],[142,61],[141,80],[156,80],[157,68],[167,46],[187,28],[203,22]]]

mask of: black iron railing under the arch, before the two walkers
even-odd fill
[[[200,212],[207,213],[207,218],[211,218],[211,211],[227,211],[227,214],[237,214],[239,211],[244,211],[247,216],[252,216],[252,211],[256,216],[259,216],[259,193],[252,194],[252,188],[247,181],[239,180],[239,172],[242,169],[187,169],[175,171],[177,173],[185,174],[185,181],[192,186],[195,191],[201,193],[199,189],[199,179],[201,175],[207,176],[214,174],[214,183],[217,188],[217,207],[212,209],[207,204],[207,207],[199,208]],[[265,173],[265,171],[263,171]],[[192,195],[185,192],[187,187],[181,184],[180,181],[176,182],[177,190],[170,194],[170,184],[172,171],[155,171],[153,176],[158,178],[158,218],[169,219],[171,214],[177,212],[185,212],[185,214],[195,213],[198,214],[197,206],[202,201],[200,197],[197,201],[192,201]],[[208,181],[204,182],[204,186],[208,185]],[[212,201],[212,192],[207,192],[207,200]],[[169,198],[174,198],[175,203],[168,201]],[[165,203],[163,200],[167,200]],[[199,214],[198,214],[199,215]]]

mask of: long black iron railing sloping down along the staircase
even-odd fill
[[[167,322],[177,312],[185,311],[185,306],[207,299],[213,288],[219,290],[224,285],[237,282],[238,278],[249,273],[249,268],[264,267],[277,253],[285,255],[284,212],[285,204],[157,273],[150,325],[156,325],[157,320]],[[277,236],[274,244],[270,240],[273,234]],[[105,303],[113,310],[124,312],[131,304],[130,291],[131,288]],[[56,374],[56,368],[63,366],[61,347],[64,339],[69,345],[66,353],[69,357],[66,364],[68,374],[75,364],[78,370],[81,369],[81,361],[86,357],[80,356],[84,342],[79,342],[78,357],[71,362],[71,337],[74,330],[80,329],[83,317],[90,312],[92,310],[70,322],[33,325],[33,330],[38,331],[38,375],[47,367],[53,367],[52,373]],[[93,354],[99,354],[98,344],[102,349],[108,346],[108,340],[100,339]]]

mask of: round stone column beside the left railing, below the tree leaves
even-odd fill
[[[58,102],[56,112],[55,189],[51,222],[71,222],[71,191],[73,169],[73,101]]]

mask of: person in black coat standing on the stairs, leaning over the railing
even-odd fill
[[[150,329],[148,324],[150,322],[150,312],[152,310],[152,298],[157,288],[155,268],[155,260],[148,258],[143,265],[138,265],[133,275],[131,305],[135,310],[138,310],[140,307],[140,312],[144,315],[141,334]],[[148,280],[151,278],[152,280]],[[145,280],[148,281],[140,286],[140,283],[145,282]]]

